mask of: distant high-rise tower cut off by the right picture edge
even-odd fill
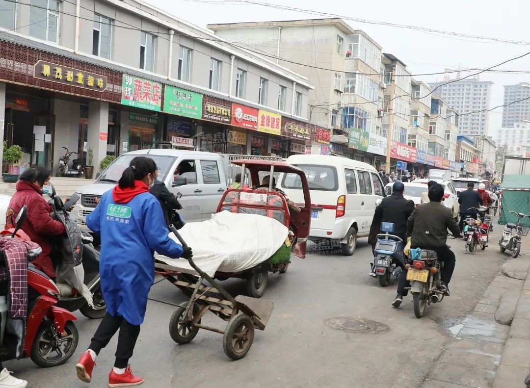
[[[528,100],[519,101],[523,99]],[[517,122],[530,120],[530,85],[528,83],[505,85],[503,103],[507,106],[502,108],[502,127],[509,128]]]

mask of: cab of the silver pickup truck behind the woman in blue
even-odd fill
[[[120,155],[89,186],[77,189],[81,200],[72,210],[81,229],[88,231],[85,216],[91,213],[105,191],[112,189],[121,174],[136,156],[151,157],[158,167],[158,180],[179,198],[184,207],[179,213],[185,221],[205,221],[217,210],[227,188],[223,158],[211,152],[182,149],[143,149]],[[180,178],[173,181],[173,172],[180,166]],[[185,166],[185,167],[184,167]]]

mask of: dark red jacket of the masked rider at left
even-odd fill
[[[9,202],[6,213],[5,228],[9,229],[15,224],[15,217],[22,206],[28,206],[28,218],[22,225],[22,230],[28,234],[31,241],[42,248],[41,255],[32,263],[49,277],[55,278],[54,266],[51,263],[51,244],[48,236],[65,233],[65,227],[59,221],[50,217],[51,206],[42,197],[41,190],[33,183],[18,181],[16,192]]]

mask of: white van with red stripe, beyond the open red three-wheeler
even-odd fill
[[[357,237],[368,236],[375,207],[385,196],[377,170],[367,163],[327,155],[293,155],[287,163],[302,169],[309,183],[310,240],[332,239],[340,243],[343,254],[353,254]],[[277,187],[300,203],[303,193],[296,177],[281,174]]]

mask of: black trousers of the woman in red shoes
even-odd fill
[[[131,325],[122,316],[112,316],[109,313],[103,317],[98,330],[96,330],[89,349],[95,351],[98,355],[109,343],[110,339],[120,330],[118,334],[118,346],[116,348],[116,361],[114,367],[126,368],[129,358],[133,357],[133,350],[136,345],[138,334],[140,334],[139,325]]]

